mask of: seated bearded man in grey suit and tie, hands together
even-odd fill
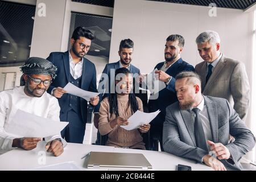
[[[254,147],[255,138],[229,102],[203,96],[194,72],[180,72],[175,89],[179,102],[166,109],[164,151],[215,170],[242,169],[239,160]],[[233,143],[228,143],[229,134],[236,139]]]

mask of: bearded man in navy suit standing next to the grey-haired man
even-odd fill
[[[163,122],[166,117],[166,107],[177,101],[175,92],[175,76],[181,71],[195,71],[192,65],[181,59],[181,52],[184,47],[184,38],[181,35],[170,35],[166,39],[164,49],[164,58],[166,61],[158,63],[155,68],[158,69],[160,81],[165,82],[166,88],[160,90],[158,97],[151,97],[148,101],[150,112],[160,110],[158,116],[150,123],[150,144],[151,150],[158,151],[158,140],[163,151]],[[157,95],[156,95],[157,96]]]

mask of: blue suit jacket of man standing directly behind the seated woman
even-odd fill
[[[111,72],[111,69],[113,69],[113,71],[115,71],[115,69],[118,69],[118,68],[120,68],[119,61],[117,61],[116,63],[106,64],[102,74],[105,73],[106,75],[108,75],[108,78],[106,78],[106,80],[105,80],[105,78],[103,78],[101,76],[98,92],[102,93],[104,89],[106,89],[106,90],[105,90],[104,96],[103,97],[101,96],[100,101],[102,101],[105,97],[109,97],[109,95],[110,95],[110,87],[111,87],[111,85],[114,84],[114,78],[113,78],[113,80],[110,80],[110,78],[111,78],[110,72]],[[138,68],[134,67],[134,65],[131,64],[130,73],[133,73],[133,74],[137,73],[137,74],[139,74],[140,71],[139,71]],[[101,83],[104,83],[104,84],[101,85]],[[106,84],[106,83],[108,83],[108,84]],[[105,88],[105,85],[108,85],[108,88]],[[100,88],[100,86],[101,86],[101,88]],[[100,104],[98,104],[95,107],[94,112],[98,112],[99,109],[100,109]]]

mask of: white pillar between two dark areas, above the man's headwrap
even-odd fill
[[[43,7],[39,3],[44,3]],[[71,0],[37,0],[30,57],[48,57],[55,51],[68,47]],[[45,16],[40,13],[45,12]],[[40,15],[40,16],[39,16]]]

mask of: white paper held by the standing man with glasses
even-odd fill
[[[86,90],[82,90],[82,89],[78,88],[77,86],[71,84],[71,82],[68,82],[68,84],[66,86],[64,86],[63,89],[65,91],[67,91],[67,93],[70,93],[74,96],[82,97],[88,102],[90,101],[90,98],[96,97],[96,96],[98,96],[98,94],[100,94],[98,92],[89,92]]]

